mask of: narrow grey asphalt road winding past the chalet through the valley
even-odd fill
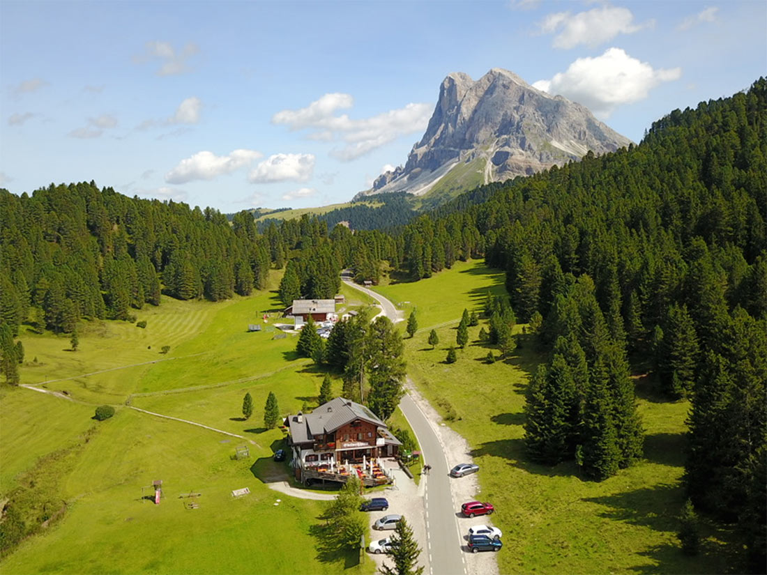
[[[373,297],[392,321],[401,319],[397,308],[385,297],[351,281],[344,280],[344,283]],[[456,508],[453,493],[450,491],[449,467],[442,445],[429,420],[409,395],[406,394],[400,401],[400,409],[418,438],[424,462],[432,466],[430,475],[424,475],[422,478],[422,481],[426,481],[424,508],[430,573],[466,575],[466,563],[461,550],[463,538],[456,521]]]

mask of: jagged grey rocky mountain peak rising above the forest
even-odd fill
[[[488,183],[629,143],[586,107],[536,90],[512,72],[493,68],[478,81],[454,72],[439,87],[426,133],[405,166],[379,176],[367,194],[425,193],[451,166],[474,159],[483,160]]]

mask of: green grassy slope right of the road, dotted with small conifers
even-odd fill
[[[699,557],[683,555],[675,537],[689,404],[665,402],[644,381],[637,385],[645,459],[607,481],[585,481],[571,462],[534,465],[525,458],[523,407],[528,379],[545,358],[532,343],[522,336],[512,358],[486,364],[490,347],[477,342],[486,327],[482,320],[469,328],[470,343],[458,350],[458,361],[444,362],[463,308],[480,312],[488,290],[504,293],[503,274],[459,262],[433,278],[376,289],[394,302],[410,302],[402,304],[406,313],[417,307],[420,329],[405,340],[408,372],[443,416],[454,410],[448,423],[472,447],[481,468],[478,497],[495,505],[492,521],[504,532],[501,573],[728,570],[721,547],[730,534],[706,527],[709,539]],[[404,329],[404,322],[399,325]],[[436,350],[426,343],[432,327],[439,335]]]

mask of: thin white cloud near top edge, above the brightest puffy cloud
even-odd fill
[[[634,24],[634,15],[628,8],[604,5],[600,8],[578,12],[557,12],[549,14],[540,23],[542,34],[558,32],[554,37],[554,48],[574,48],[586,44],[594,48],[610,41],[619,34],[633,34],[642,28],[653,26],[654,21],[643,25]]]

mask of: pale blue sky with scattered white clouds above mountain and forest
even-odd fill
[[[447,74],[493,67],[639,142],[767,75],[767,2],[0,0],[0,187],[347,202],[405,163]]]

